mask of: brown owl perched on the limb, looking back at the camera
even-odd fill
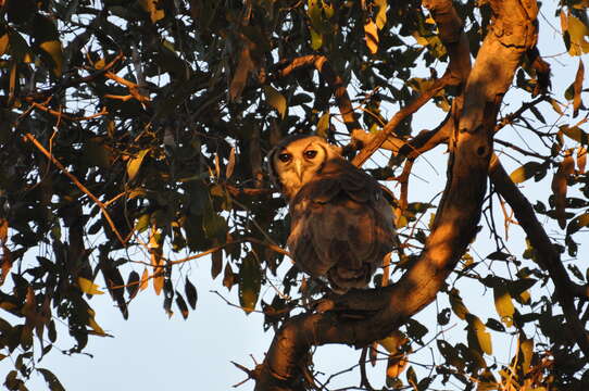
[[[336,293],[364,288],[392,251],[392,210],[378,182],[317,136],[291,136],[268,154],[289,204],[294,263]]]

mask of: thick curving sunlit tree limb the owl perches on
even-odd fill
[[[427,1],[426,5],[449,10],[452,2]],[[387,337],[436,298],[464,254],[480,218],[499,104],[522,55],[537,40],[536,1],[496,0],[490,7],[492,23],[469,72],[464,105],[453,106],[458,126],[450,142],[448,181],[423,253],[398,283],[350,293],[366,303],[378,298],[384,306],[374,316],[349,319],[325,312],[286,321],[258,371],[255,390],[302,389],[302,365],[312,345],[364,346]]]

